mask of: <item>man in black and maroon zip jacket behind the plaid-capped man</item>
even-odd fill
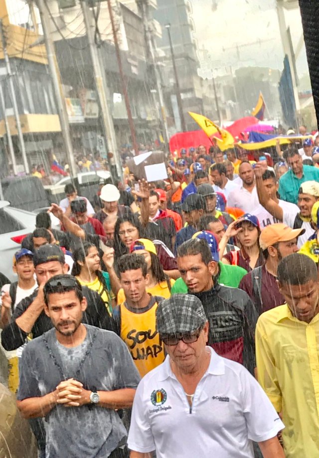
[[[206,240],[193,238],[182,243],[177,249],[177,265],[188,293],[203,304],[209,322],[208,345],[254,374],[258,313],[249,296],[218,284],[218,262],[212,259]]]

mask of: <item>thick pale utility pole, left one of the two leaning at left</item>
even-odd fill
[[[62,85],[60,79],[60,71],[56,61],[54,44],[51,39],[51,31],[49,25],[48,10],[44,4],[44,0],[37,0],[37,6],[40,12],[41,24],[43,29],[43,36],[50,69],[50,76],[52,78],[53,90],[55,95],[55,102],[58,109],[60,119],[61,132],[64,141],[65,151],[72,177],[76,177],[77,168],[73,156],[73,147],[70,134],[69,118],[66,111],[64,96],[62,93]]]

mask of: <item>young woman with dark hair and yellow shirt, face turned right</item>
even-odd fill
[[[74,264],[72,275],[81,285],[97,291],[110,315],[112,315],[112,303],[110,297],[110,277],[107,272],[101,271],[101,259],[97,247],[88,241],[73,251]]]

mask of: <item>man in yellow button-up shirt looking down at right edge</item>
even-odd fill
[[[286,458],[319,457],[319,280],[304,254],[278,266],[286,300],[263,313],[256,326],[258,380],[286,426]]]

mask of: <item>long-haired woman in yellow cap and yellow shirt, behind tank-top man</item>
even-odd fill
[[[169,279],[164,273],[157,255],[155,244],[147,238],[139,238],[132,244],[130,251],[145,257],[149,274],[146,287],[147,292],[152,294],[152,296],[161,296],[168,299],[175,280]],[[124,301],[124,291],[120,289],[118,293],[118,304]]]

